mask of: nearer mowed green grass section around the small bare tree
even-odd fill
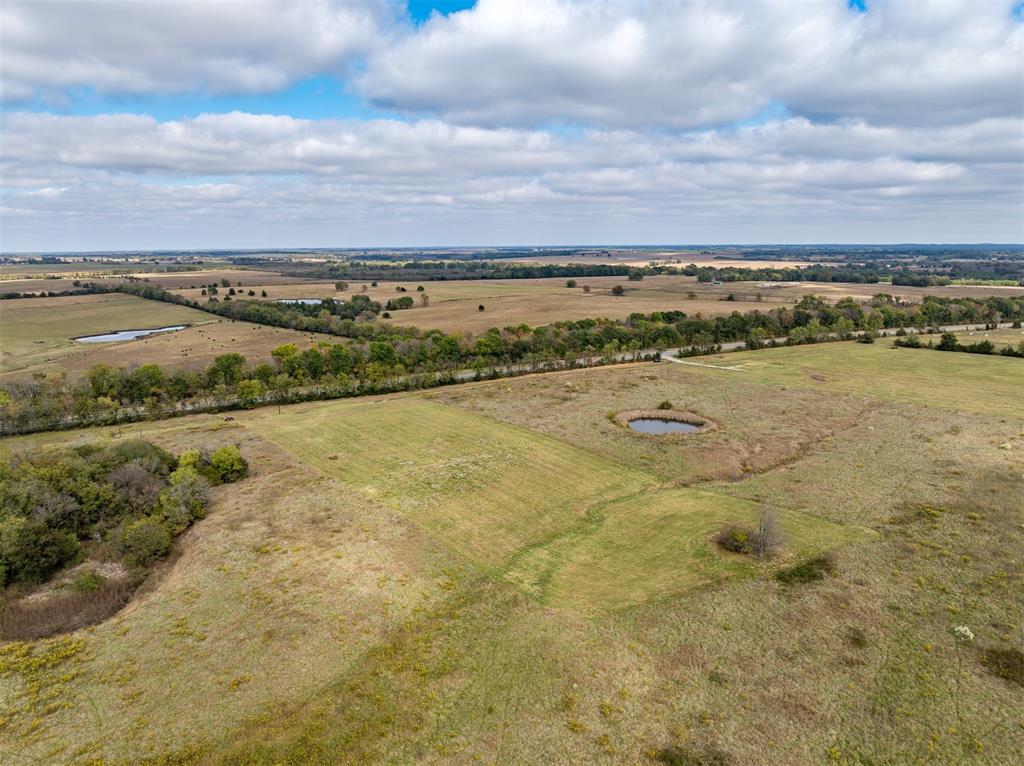
[[[770,572],[805,556],[867,540],[867,529],[806,513],[778,514],[785,544],[769,562],[725,553],[713,538],[728,524],[756,526],[761,506],[688,487],[622,498],[591,513],[589,523],[525,552],[508,579],[541,601],[603,611],[703,588],[734,577]]]

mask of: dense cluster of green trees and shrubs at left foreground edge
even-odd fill
[[[211,484],[247,465],[237,448],[173,455],[141,439],[0,464],[0,585],[39,583],[102,546],[144,567],[206,513]]]

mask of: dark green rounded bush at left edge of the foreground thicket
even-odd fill
[[[22,516],[0,522],[0,566],[5,582],[41,583],[78,554],[78,540],[69,531]]]

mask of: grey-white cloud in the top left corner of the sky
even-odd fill
[[[386,39],[386,0],[12,0],[0,6],[0,95],[268,92],[346,65]]]

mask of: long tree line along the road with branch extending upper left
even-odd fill
[[[1024,318],[1024,296],[929,296],[921,303],[906,303],[879,294],[862,306],[851,298],[830,305],[807,295],[793,308],[764,312],[734,311],[714,317],[678,310],[635,312],[625,320],[589,318],[447,334],[352,318],[352,305],[361,303],[355,300],[325,301],[316,306],[246,300],[198,303],[150,285],[126,285],[120,290],[232,320],[333,335],[339,342],[305,349],[286,344],[272,351],[270,361],[251,363],[239,353],[221,354],[206,370],[99,365],[82,380],[37,377],[6,383],[0,390],[3,432],[404,390],[455,382],[461,371],[485,377],[564,369],[606,364],[624,355],[636,357],[649,349],[683,347],[696,355],[714,353],[723,343],[737,341],[760,348],[780,337],[793,344],[815,343],[851,338],[855,333],[869,338],[884,328]]]

